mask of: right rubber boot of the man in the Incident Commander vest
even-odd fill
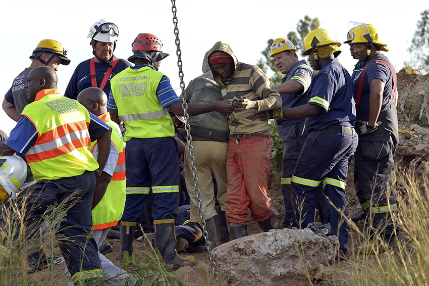
[[[156,246],[158,247],[159,254],[162,256],[164,262],[171,268],[179,268],[182,266],[192,266],[195,264],[195,257],[189,255],[181,257],[176,252],[176,232],[174,226],[174,218],[172,219],[154,220]]]

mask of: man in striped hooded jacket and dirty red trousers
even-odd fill
[[[237,239],[247,235],[248,208],[263,231],[273,228],[268,178],[274,144],[268,122],[257,119],[255,114],[280,108],[282,99],[262,70],[238,62],[227,43],[217,42],[208,55],[213,78],[223,98],[234,99],[234,112],[227,116],[230,135],[225,207],[228,222]]]

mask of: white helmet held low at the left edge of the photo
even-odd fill
[[[16,155],[0,156],[0,199],[16,198],[17,189],[27,177],[27,163]]]

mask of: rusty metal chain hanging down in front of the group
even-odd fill
[[[182,100],[182,108],[183,108],[184,117],[185,117],[186,141],[189,148],[190,162],[191,162],[192,175],[193,175],[193,181],[194,181],[194,187],[195,187],[195,195],[197,197],[198,215],[201,219],[202,233],[204,235],[205,247],[207,248],[208,258],[210,259],[210,265],[211,265],[211,269],[213,270],[213,275],[215,276],[215,279],[219,283],[219,285],[222,285],[222,282],[219,281],[217,265],[216,265],[215,259],[213,258],[213,253],[211,252],[211,244],[208,239],[208,232],[207,232],[207,228],[204,220],[204,212],[202,210],[201,192],[200,192],[200,189],[198,188],[198,178],[197,178],[197,169],[195,167],[194,148],[192,147],[191,127],[189,126],[188,104],[186,103],[186,99],[185,99],[185,83],[183,81],[182,57],[181,57],[182,52],[180,50],[179,28],[177,27],[176,0],[171,0],[171,3],[173,5],[171,10],[173,12],[174,34],[176,35],[177,66],[179,67],[180,88],[182,90],[182,93],[180,94],[180,99]]]

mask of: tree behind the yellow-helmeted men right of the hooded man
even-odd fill
[[[287,34],[287,38],[290,39],[296,47],[297,55],[298,57],[304,53],[304,38],[310,32],[311,30],[314,30],[319,26],[319,19],[314,18],[311,19],[307,15],[304,16],[304,19],[299,20],[299,22],[296,24],[296,32],[290,31]],[[282,82],[283,75],[280,73],[280,71],[276,68],[276,65],[274,64],[273,59],[270,58],[271,54],[271,45],[273,44],[274,40],[269,39],[267,41],[267,47],[261,52],[261,54],[264,56],[263,58],[259,59],[257,62],[257,66],[260,67],[265,73],[267,71],[267,68],[270,68],[274,75],[270,77],[270,81],[274,85],[279,85]]]

